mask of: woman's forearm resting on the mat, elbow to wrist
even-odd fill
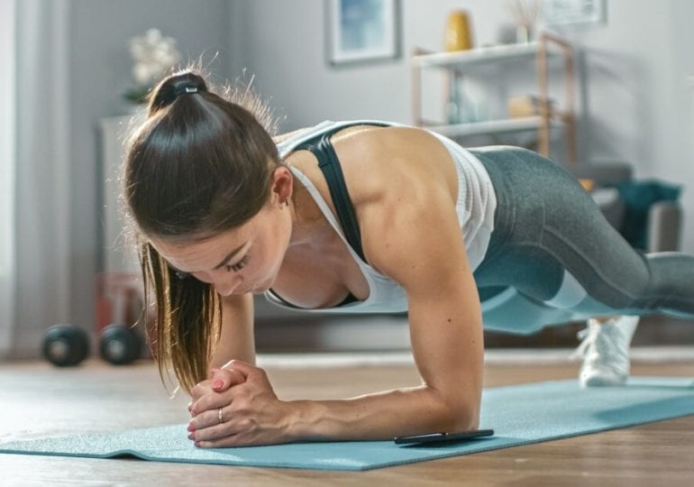
[[[426,386],[386,391],[349,400],[293,400],[290,441],[385,440],[394,436],[476,429],[479,404],[453,406]]]

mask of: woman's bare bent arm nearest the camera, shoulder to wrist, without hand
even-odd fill
[[[370,244],[371,263],[406,289],[423,384],[352,400],[297,401],[291,436],[383,439],[479,425],[481,311],[457,216],[443,193],[409,198],[391,202],[388,217],[375,216],[366,227],[384,230]]]

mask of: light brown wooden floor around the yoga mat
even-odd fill
[[[572,378],[576,363],[489,364],[486,387]],[[417,383],[411,365],[268,368],[280,398],[339,398]],[[691,377],[694,363],[635,364],[635,374]],[[70,370],[0,363],[0,442],[187,421],[187,398],[169,400],[151,363],[98,361]],[[367,472],[166,464],[0,455],[14,485],[691,485],[694,417],[533,446]]]

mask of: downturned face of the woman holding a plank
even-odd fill
[[[291,234],[286,207],[266,205],[244,225],[205,240],[151,244],[171,268],[215,286],[222,296],[268,290],[278,275]]]

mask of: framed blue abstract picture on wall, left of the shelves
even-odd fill
[[[333,66],[400,55],[400,0],[325,0],[327,60]]]

